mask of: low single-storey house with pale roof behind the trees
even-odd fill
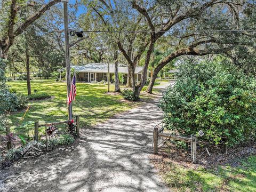
[[[77,72],[77,81],[79,82],[101,82],[108,81],[108,63],[90,63],[85,66],[70,66],[74,68]],[[137,81],[141,80],[143,67],[136,67],[135,69],[135,79]],[[127,82],[127,67],[118,67],[118,73],[123,74],[123,82]],[[112,77],[115,75],[115,65],[110,63],[109,65],[110,82],[113,81]],[[114,82],[114,81],[113,81]]]

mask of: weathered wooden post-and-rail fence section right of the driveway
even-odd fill
[[[161,129],[158,130],[157,126],[160,125],[161,123],[162,123],[162,127],[161,127]],[[196,163],[196,137],[194,135],[191,135],[190,137],[185,137],[185,136],[181,136],[181,135],[163,133],[164,126],[163,126],[163,122],[161,122],[161,123],[157,124],[153,130],[153,152],[154,152],[154,154],[158,154],[158,137],[190,142],[191,158],[192,158],[193,163]]]

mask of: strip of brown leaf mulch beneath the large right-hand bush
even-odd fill
[[[158,148],[157,155],[150,155],[150,161],[156,166],[161,166],[162,163],[173,163],[182,165],[183,167],[196,169],[197,167],[213,168],[219,165],[229,164],[230,166],[240,165],[241,159],[256,155],[256,143],[250,142],[246,145],[240,145],[233,148],[228,148],[227,155],[222,153],[222,149],[217,146],[207,147],[210,156],[207,154],[205,147],[197,146],[197,162],[194,164],[191,161],[190,148],[179,149],[169,141]]]

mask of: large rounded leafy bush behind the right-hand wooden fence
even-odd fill
[[[255,136],[256,81],[227,61],[183,63],[160,107],[168,129],[236,145]]]

